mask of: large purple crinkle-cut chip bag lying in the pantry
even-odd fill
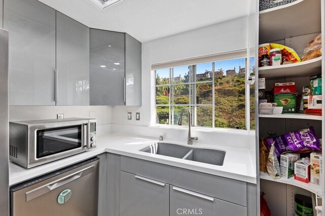
[[[307,129],[290,132],[274,138],[266,139],[269,146],[274,144],[275,153],[279,157],[283,152],[301,150],[321,151],[319,148],[319,140],[315,135],[314,128],[310,126]],[[271,154],[271,153],[270,153]]]

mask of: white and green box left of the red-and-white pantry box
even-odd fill
[[[281,177],[289,179],[295,175],[295,162],[299,160],[300,154],[286,152],[280,156]]]

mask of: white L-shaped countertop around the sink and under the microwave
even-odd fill
[[[193,148],[209,148],[226,151],[223,165],[217,166],[139,151],[139,149],[142,149],[155,141],[156,140],[145,137],[109,134],[97,138],[97,147],[95,149],[91,149],[83,153],[79,153],[29,169],[23,168],[22,166],[10,162],[9,185],[14,185],[28,179],[44,175],[53,170],[68,166],[70,164],[85,160],[104,152],[164,163],[166,165],[177,166],[185,169],[205,172],[207,174],[256,184],[256,171],[252,163],[252,161],[255,161],[255,158],[251,158],[251,154],[249,153],[248,149],[229,148],[223,146],[218,147],[205,144],[193,144],[191,146]],[[164,142],[176,143],[168,140]],[[186,145],[185,142],[177,142],[177,144]]]

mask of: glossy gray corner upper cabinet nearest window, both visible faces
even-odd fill
[[[141,42],[90,29],[90,105],[141,105]]]

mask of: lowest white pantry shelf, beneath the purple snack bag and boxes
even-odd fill
[[[285,179],[285,178],[280,178],[280,179],[273,179],[269,176],[269,174],[267,172],[259,172],[259,179],[264,179],[264,180],[269,180],[269,181],[273,181],[273,182],[278,182],[278,183],[283,183],[283,184],[288,184],[288,185],[293,185],[296,187],[300,187],[302,189],[308,190],[314,194],[316,194],[316,192],[321,192],[320,186],[313,184],[313,183],[304,183],[298,180],[295,180],[294,177],[290,178],[290,179]]]

